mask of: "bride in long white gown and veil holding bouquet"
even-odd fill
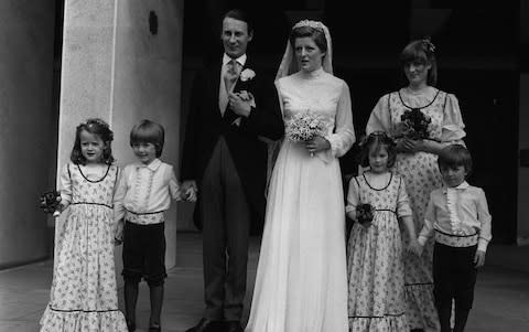
[[[293,74],[292,74],[293,73]],[[347,84],[332,69],[331,35],[317,21],[291,32],[276,86],[285,124],[301,113],[325,133],[281,143],[268,196],[247,332],[347,331],[345,210],[338,157],[355,141]]]

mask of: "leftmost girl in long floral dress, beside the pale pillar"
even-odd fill
[[[50,303],[41,332],[125,332],[114,265],[112,197],[118,176],[112,131],[100,119],[77,126],[71,162],[61,174],[61,211]]]

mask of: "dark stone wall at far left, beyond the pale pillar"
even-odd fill
[[[55,0],[0,1],[0,268],[50,255],[39,195],[54,186]]]

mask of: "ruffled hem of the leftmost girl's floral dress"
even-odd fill
[[[111,311],[56,311],[46,308],[41,319],[41,332],[128,332],[125,315]]]

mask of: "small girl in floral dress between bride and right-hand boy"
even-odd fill
[[[353,332],[406,332],[404,268],[399,219],[414,239],[415,229],[399,175],[388,171],[396,159],[392,140],[373,132],[363,144],[369,170],[349,182],[347,216],[356,223],[348,243],[349,329]],[[370,216],[366,217],[365,204]],[[420,251],[418,242],[410,250]]]

